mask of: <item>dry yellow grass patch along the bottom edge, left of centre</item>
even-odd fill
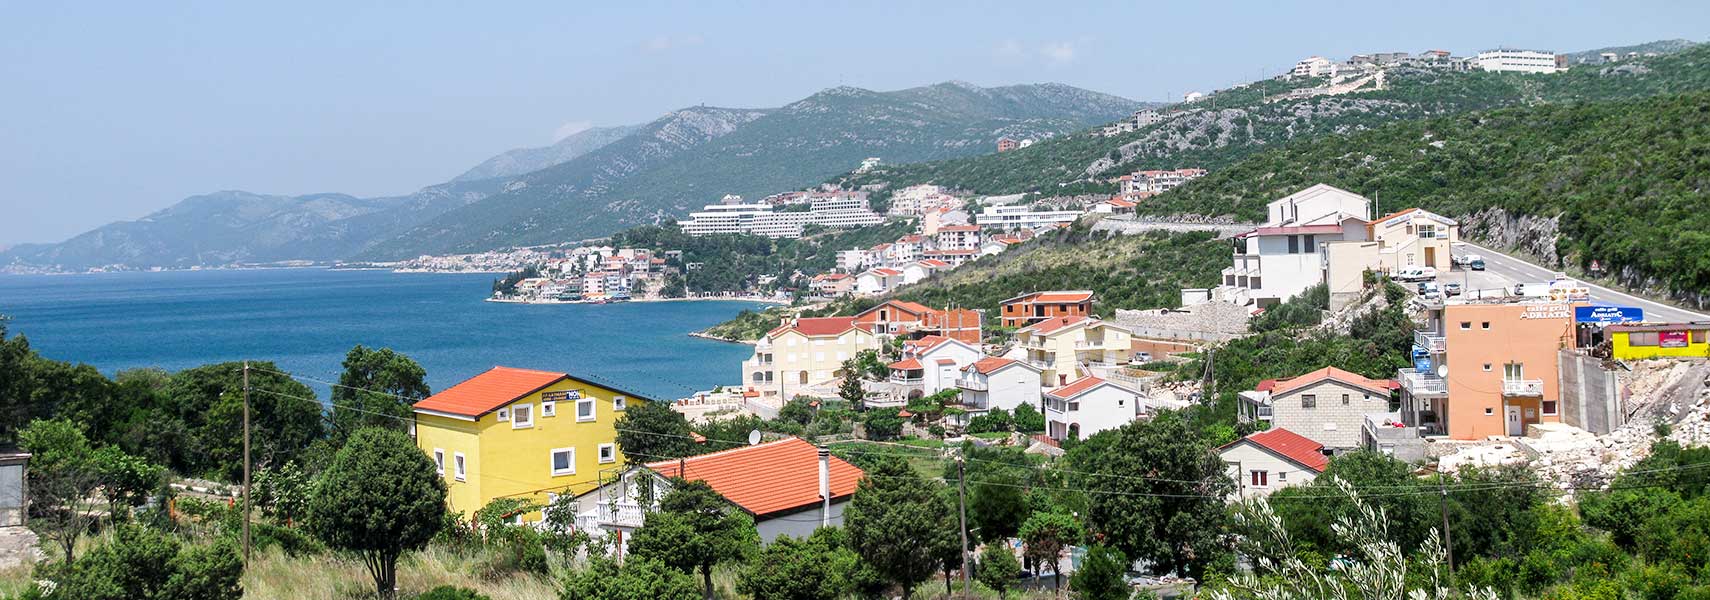
[[[510,574],[484,579],[475,574],[479,559],[429,547],[398,559],[398,590],[410,597],[441,585],[481,591],[492,600],[557,600],[551,578]],[[256,552],[243,573],[243,597],[267,600],[352,600],[373,598],[374,579],[357,559],[321,556],[286,556],[279,549]]]

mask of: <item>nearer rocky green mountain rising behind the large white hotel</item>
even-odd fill
[[[725,193],[761,197],[887,162],[990,154],[999,137],[1047,137],[1141,103],[1058,84],[947,82],[894,92],[834,87],[776,109],[691,108],[569,162],[511,179],[364,258],[605,236],[669,221]]]

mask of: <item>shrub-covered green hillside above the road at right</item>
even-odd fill
[[[1710,92],[1327,137],[1253,156],[1142,209],[1260,219],[1267,200],[1313,183],[1464,217],[1471,238],[1546,238],[1524,250],[1577,270],[1599,260],[1624,285],[1710,304]],[[1548,226],[1515,231],[1517,217],[1554,219],[1560,236],[1549,244]]]

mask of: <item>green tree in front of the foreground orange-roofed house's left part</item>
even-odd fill
[[[759,547],[754,520],[735,509],[706,482],[675,480],[658,509],[629,540],[629,552],[684,573],[701,571],[706,598],[713,598],[713,568],[744,559]]]

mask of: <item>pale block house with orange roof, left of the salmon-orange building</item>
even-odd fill
[[[1322,368],[1296,378],[1271,381],[1262,397],[1240,395],[1241,412],[1271,409],[1271,427],[1288,429],[1330,448],[1361,448],[1366,415],[1389,414],[1390,379],[1371,379],[1337,368]],[[1255,405],[1253,400],[1262,403]]]

